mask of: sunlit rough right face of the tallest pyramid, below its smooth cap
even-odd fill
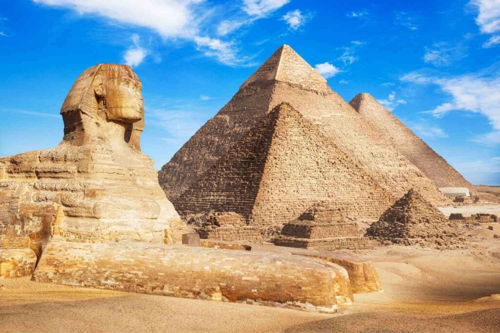
[[[436,205],[448,203],[436,185],[331,89],[318,92],[276,82],[270,108],[290,103],[397,198],[418,188]]]

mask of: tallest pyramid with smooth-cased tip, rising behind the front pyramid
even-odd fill
[[[287,45],[279,47],[241,85],[231,100],[162,167],[158,176],[167,197],[180,203],[176,198],[187,189],[198,186],[196,180],[281,102],[290,103],[305,119],[317,125],[339,151],[395,198],[414,187],[432,203],[445,202],[430,179],[387,143],[375,127],[332,91],[326,80]],[[303,191],[314,191],[317,187],[310,184]],[[227,202],[233,199],[228,198]],[[183,205],[176,208],[185,210],[187,205],[197,204],[186,202]]]

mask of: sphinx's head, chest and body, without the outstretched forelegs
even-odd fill
[[[129,66],[90,67],[62,104],[59,145],[0,158],[0,250],[30,247],[39,257],[53,236],[172,242],[182,222],[140,151],[141,89]]]

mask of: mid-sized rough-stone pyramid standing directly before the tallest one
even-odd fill
[[[173,204],[182,214],[235,212],[254,226],[289,222],[318,198],[376,219],[395,200],[289,104],[255,124]]]

